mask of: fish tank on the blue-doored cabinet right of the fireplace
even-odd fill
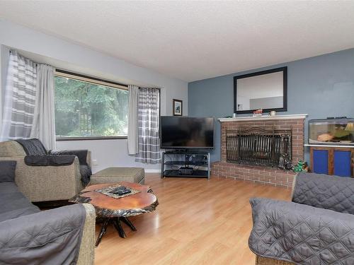
[[[309,143],[354,146],[354,119],[347,117],[310,119]]]

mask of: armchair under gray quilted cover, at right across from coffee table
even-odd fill
[[[292,201],[250,202],[256,264],[354,264],[354,179],[300,172]]]

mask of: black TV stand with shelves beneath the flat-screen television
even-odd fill
[[[210,179],[210,153],[200,150],[162,152],[161,178],[205,177]]]

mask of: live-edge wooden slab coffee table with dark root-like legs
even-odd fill
[[[117,184],[141,192],[115,199],[95,191],[96,189],[103,189]],[[78,204],[92,204],[96,209],[96,217],[103,220],[101,232],[96,240],[96,247],[100,244],[103,235],[105,235],[109,223],[113,223],[115,229],[118,231],[118,235],[124,238],[125,232],[120,221],[128,225],[133,231],[136,231],[137,229],[127,217],[150,213],[159,205],[156,196],[152,193],[152,189],[149,186],[132,182],[91,185],[83,189],[69,201]]]

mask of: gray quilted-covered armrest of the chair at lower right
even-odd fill
[[[295,264],[354,260],[354,216],[290,201],[252,198],[249,247],[258,256]]]

